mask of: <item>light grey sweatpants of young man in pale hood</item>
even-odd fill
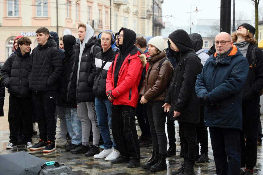
[[[94,102],[82,102],[77,105],[77,115],[81,121],[82,142],[89,142],[90,138],[90,121],[92,124],[93,144],[98,145],[100,131],[95,111]]]

